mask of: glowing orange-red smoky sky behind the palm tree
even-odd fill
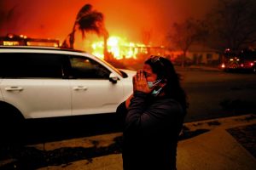
[[[213,1],[214,2],[214,1]],[[142,42],[142,30],[151,30],[160,43],[174,21],[199,17],[212,6],[206,0],[0,0],[0,12],[15,7],[13,17],[0,27],[28,37],[63,40],[72,30],[79,9],[86,3],[102,12],[110,35]]]

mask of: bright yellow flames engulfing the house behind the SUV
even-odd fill
[[[103,41],[93,42],[91,45],[93,52],[99,58],[104,59]],[[125,38],[112,36],[107,42],[108,53],[115,59],[137,59],[137,54],[148,54],[147,46],[143,43],[127,42]]]

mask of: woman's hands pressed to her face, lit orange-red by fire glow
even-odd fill
[[[143,92],[145,94],[151,93],[152,89],[148,88],[148,82],[143,73],[143,70],[138,70],[137,74],[132,77],[133,90]]]

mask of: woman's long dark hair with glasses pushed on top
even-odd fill
[[[180,75],[175,71],[171,60],[152,55],[144,63],[151,66],[158,79],[166,80],[166,86],[163,88],[166,95],[177,100],[186,112],[188,108],[187,96],[180,85]]]

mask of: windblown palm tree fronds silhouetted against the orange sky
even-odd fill
[[[75,32],[78,30],[82,32],[83,39],[86,31],[96,32],[97,35],[102,35],[104,38],[108,39],[108,31],[104,26],[103,14],[93,10],[90,4],[85,4],[84,7],[79,10],[73,25],[73,30],[67,35],[61,47],[73,48]]]

